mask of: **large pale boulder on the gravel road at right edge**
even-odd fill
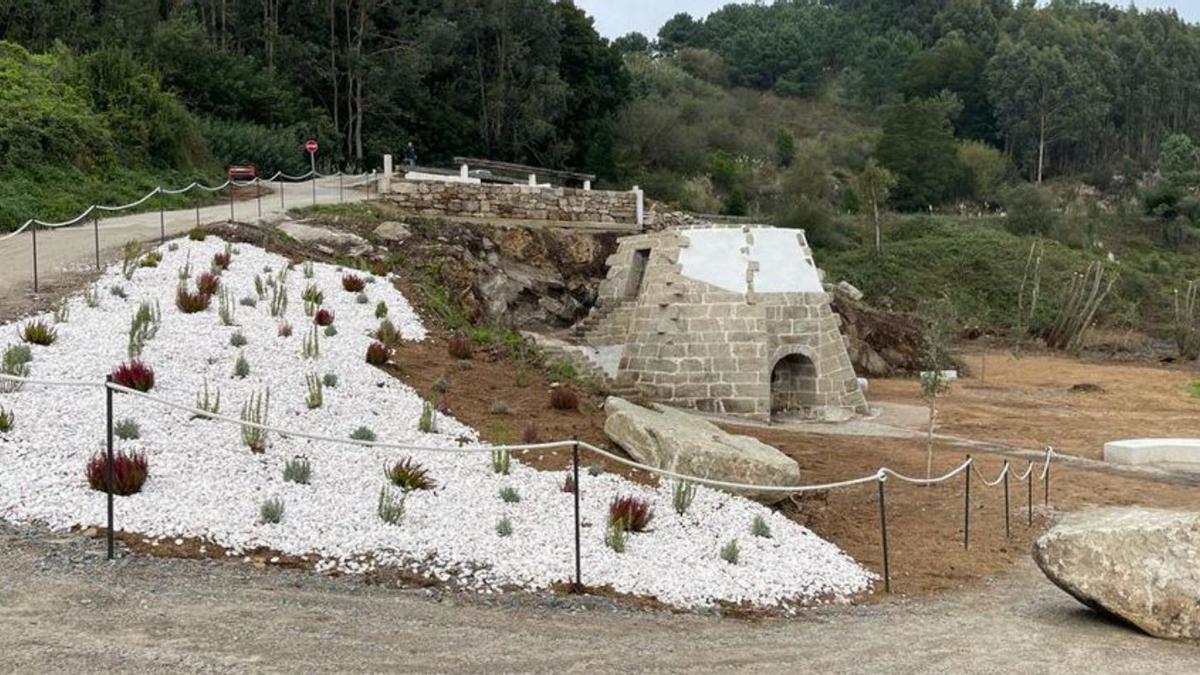
[[[1200,514],[1102,508],[1066,515],[1033,545],[1060,589],[1158,638],[1200,638]]]

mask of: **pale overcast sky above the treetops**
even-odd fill
[[[649,37],[659,26],[679,12],[692,17],[707,16],[727,5],[730,0],[575,0],[596,19],[596,30],[605,37],[619,37],[638,31]],[[1124,6],[1127,0],[1111,0],[1110,5]],[[1200,0],[1135,0],[1142,8],[1175,7],[1189,22],[1200,22]]]

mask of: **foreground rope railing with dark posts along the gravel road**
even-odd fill
[[[942,476],[937,476],[937,477],[916,478],[916,477],[911,477],[911,476],[906,476],[904,473],[900,473],[900,472],[898,472],[898,471],[895,471],[893,468],[889,468],[887,466],[882,466],[875,473],[871,473],[871,474],[868,474],[868,476],[862,476],[862,477],[858,477],[858,478],[850,478],[850,479],[846,479],[846,480],[838,480],[838,482],[822,483],[822,484],[815,484],[815,485],[758,485],[758,484],[752,484],[752,483],[739,483],[739,482],[732,482],[732,480],[718,480],[718,479],[713,479],[713,478],[708,478],[708,477],[692,476],[692,474],[682,473],[682,472],[668,470],[668,468],[662,468],[662,467],[658,467],[658,466],[652,466],[652,465],[642,464],[640,461],[620,456],[620,455],[618,455],[616,453],[612,453],[610,450],[606,450],[604,448],[599,448],[596,446],[593,446],[592,443],[587,443],[587,442],[577,441],[577,440],[571,440],[571,441],[552,441],[552,442],[544,442],[544,443],[504,444],[504,446],[474,446],[474,447],[460,447],[460,448],[446,448],[446,447],[439,447],[439,446],[418,446],[418,444],[406,444],[406,443],[388,443],[388,442],[380,442],[380,441],[358,441],[358,440],[354,440],[354,438],[344,438],[344,437],[340,438],[340,437],[334,437],[334,436],[326,436],[326,435],[323,435],[323,434],[313,434],[313,432],[308,432],[308,431],[299,431],[299,430],[294,430],[294,429],[286,429],[286,428],[274,426],[274,425],[270,425],[270,424],[264,424],[264,423],[259,423],[259,422],[254,422],[254,420],[250,420],[250,419],[234,418],[234,417],[229,417],[229,416],[224,416],[224,414],[210,412],[210,411],[206,411],[206,410],[203,410],[203,408],[198,408],[198,407],[194,407],[194,406],[191,406],[191,405],[179,404],[179,402],[164,399],[162,396],[156,396],[156,395],[152,395],[152,394],[149,394],[149,393],[145,393],[145,392],[139,392],[139,390],[136,390],[136,389],[130,389],[127,387],[122,387],[122,386],[116,384],[115,382],[113,382],[112,378],[108,378],[106,382],[101,383],[101,382],[89,382],[89,381],[79,381],[79,380],[44,380],[44,378],[20,377],[20,376],[14,376],[14,375],[2,375],[2,374],[0,374],[0,381],[8,381],[8,382],[13,382],[13,383],[20,383],[22,386],[24,386],[24,384],[32,384],[32,386],[46,386],[46,387],[103,388],[106,390],[106,398],[107,398],[107,424],[108,424],[108,444],[107,444],[107,449],[108,449],[108,462],[109,462],[109,466],[112,466],[112,462],[113,462],[113,456],[112,456],[113,455],[113,405],[112,405],[112,402],[113,402],[113,394],[114,393],[115,394],[125,394],[125,395],[134,396],[137,399],[142,399],[142,400],[145,400],[145,401],[149,401],[149,402],[152,402],[152,404],[166,406],[168,408],[181,411],[181,412],[191,414],[193,418],[210,419],[210,420],[216,420],[216,422],[221,422],[221,423],[229,424],[229,425],[236,425],[239,428],[258,429],[258,430],[262,430],[262,431],[265,431],[265,432],[277,434],[277,435],[283,436],[283,437],[304,438],[304,440],[307,440],[307,441],[314,441],[314,442],[322,442],[322,443],[334,443],[334,444],[342,444],[342,446],[358,446],[358,447],[367,447],[367,448],[391,449],[391,450],[402,450],[402,452],[410,452],[410,453],[442,453],[442,454],[457,454],[457,455],[484,454],[484,453],[496,453],[496,452],[510,452],[510,453],[517,453],[517,452],[520,452],[520,453],[523,453],[523,452],[533,452],[533,450],[563,450],[563,449],[570,449],[571,450],[571,464],[572,464],[574,480],[575,480],[574,482],[574,485],[575,485],[574,490],[575,490],[575,494],[576,494],[576,500],[575,500],[575,537],[576,537],[576,540],[575,540],[575,565],[576,565],[576,577],[575,577],[575,584],[574,584],[574,589],[575,590],[581,590],[583,587],[582,586],[582,572],[581,572],[581,565],[582,563],[581,563],[581,552],[580,552],[581,515],[580,515],[580,502],[578,502],[578,490],[580,490],[580,450],[581,449],[582,450],[587,450],[587,452],[589,452],[589,453],[592,453],[592,454],[594,454],[596,456],[601,456],[601,458],[608,459],[610,461],[620,464],[620,465],[626,466],[629,468],[634,468],[634,470],[637,470],[637,471],[644,471],[646,473],[652,474],[652,476],[658,476],[658,477],[661,477],[661,478],[671,478],[673,480],[691,483],[691,484],[696,484],[696,485],[704,485],[704,486],[708,486],[708,488],[715,488],[715,489],[722,489],[722,490],[731,490],[731,491],[736,491],[736,492],[755,492],[755,494],[773,494],[773,495],[784,495],[784,496],[796,496],[796,495],[804,494],[804,492],[828,491],[828,490],[835,490],[835,489],[841,489],[841,488],[851,488],[851,486],[856,486],[856,485],[864,485],[864,484],[868,484],[868,483],[876,483],[878,485],[880,531],[881,531],[881,543],[882,543],[882,554],[883,554],[883,583],[884,583],[884,590],[887,592],[892,591],[892,575],[890,575],[889,549],[888,549],[888,533],[887,533],[887,498],[886,498],[886,490],[884,490],[884,485],[887,484],[887,482],[888,482],[889,478],[895,478],[896,480],[901,480],[904,483],[910,483],[910,484],[914,484],[914,485],[934,485],[934,484],[946,483],[946,482],[950,480],[952,478],[954,478],[954,477],[956,477],[959,474],[964,474],[965,478],[966,478],[965,490],[964,490],[965,501],[964,501],[964,522],[962,522],[962,536],[964,536],[962,544],[964,544],[965,548],[970,548],[971,474],[974,473],[977,476],[977,478],[980,482],[983,482],[983,484],[985,486],[989,486],[989,488],[996,486],[996,485],[1003,483],[1003,485],[1004,485],[1004,534],[1006,534],[1006,537],[1008,537],[1010,534],[1010,526],[1009,526],[1010,508],[1009,508],[1009,484],[1008,484],[1008,478],[1010,476],[1014,476],[1014,473],[1010,470],[1010,465],[1009,465],[1008,460],[1004,460],[1003,467],[1001,468],[1001,471],[997,474],[997,477],[995,479],[992,479],[992,480],[988,480],[983,476],[983,473],[979,471],[979,468],[976,466],[974,459],[971,455],[967,455],[967,458],[960,465],[958,465],[956,467],[954,467],[949,472],[943,473]],[[1045,503],[1046,504],[1050,503],[1050,480],[1049,480],[1049,478],[1050,478],[1050,464],[1054,460],[1055,454],[1057,454],[1057,453],[1055,452],[1055,449],[1052,447],[1048,446],[1045,448],[1045,459],[1044,459],[1043,467],[1042,467],[1042,480],[1043,480],[1044,489],[1045,489]],[[1030,526],[1030,527],[1032,527],[1032,525],[1033,525],[1033,467],[1034,467],[1034,465],[1036,465],[1036,462],[1031,460],[1028,462],[1028,466],[1026,467],[1025,472],[1021,473],[1018,477],[1019,480],[1025,480],[1026,485],[1027,485],[1027,509],[1028,509],[1027,526]],[[109,486],[110,485],[112,485],[112,483],[109,482]],[[113,509],[112,509],[113,495],[112,495],[110,491],[108,494],[108,500],[109,500],[109,510],[108,510],[108,555],[109,555],[109,558],[112,558],[112,556],[113,556],[114,522],[113,522]]]

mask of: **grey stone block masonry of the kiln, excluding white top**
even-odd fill
[[[704,412],[769,418],[775,364],[800,354],[816,377],[805,399],[817,418],[865,413],[826,293],[739,293],[679,271],[677,231],[626,237],[599,289],[594,345],[624,344],[616,387]],[[636,285],[638,251],[649,250]],[[636,285],[636,286],[635,286]]]

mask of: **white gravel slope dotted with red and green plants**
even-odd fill
[[[389,317],[409,340],[425,330],[412,307],[386,280],[367,286],[368,304],[341,287],[341,274],[317,264],[316,279],[292,270],[288,319],[290,338],[276,335],[276,319],[266,303],[236,307],[236,328],[221,325],[216,299],[198,315],[182,315],[174,305],[176,270],[191,251],[193,277],[208,269],[223,241],[180,240],[178,251],[161,249],[162,263],[138,269],[132,281],[110,269],[98,282],[101,306],[90,309],[82,297],[71,299],[70,319],[60,324],[59,340],[34,347],[31,377],[102,382],[126,360],[130,316],[142,299],[162,305],[162,328],[145,348],[143,360],[155,369],[152,394],[191,405],[208,378],[221,390],[222,413],[236,416],[250,393],[270,387],[269,423],[298,431],[348,437],[359,425],[370,426],[380,441],[457,448],[461,437],[475,440],[472,429],[442,418],[440,434],[416,430],[422,401],[409,387],[366,364],[367,335],[378,321],[374,305],[386,301]],[[222,283],[235,298],[253,294],[253,276],[264,265],[278,270],[281,256],[241,244]],[[336,312],[338,334],[320,338],[316,362],[301,357],[301,340],[310,322],[300,293],[316,282],[325,306]],[[124,286],[128,298],[109,294]],[[44,318],[50,318],[48,315]],[[17,342],[16,322],[0,327],[0,346]],[[229,345],[241,330],[242,350]],[[245,380],[233,377],[239,351],[251,364]],[[401,364],[402,365],[402,364]],[[307,410],[305,374],[334,372],[337,388],[325,389],[324,406]],[[16,428],[0,436],[0,518],[38,521],[52,527],[104,522],[104,498],[89,489],[83,470],[86,458],[101,449],[104,428],[102,389],[62,389],[38,386],[0,395],[0,406],[17,416]],[[574,530],[570,494],[559,489],[563,474],[512,462],[510,476],[497,476],[488,454],[416,453],[430,467],[438,489],[407,500],[402,525],[389,526],[376,515],[384,485],[382,467],[406,453],[317,443],[271,436],[264,455],[241,444],[235,425],[192,420],[188,414],[132,396],[116,396],[116,418],[138,422],[142,437],[119,442],[149,456],[150,478],[138,495],[116,500],[116,524],[146,537],[199,537],[234,551],[268,546],[287,554],[313,555],[320,568],[361,571],[373,565],[402,565],[481,591],[517,585],[545,589],[574,573]],[[283,464],[305,455],[313,464],[311,485],[284,483]],[[653,596],[678,607],[715,602],[784,605],[844,599],[870,587],[875,577],[835,545],[809,530],[739,497],[701,488],[684,516],[671,508],[670,486],[658,490],[604,474],[581,479],[584,509],[583,574],[588,585]],[[508,504],[498,491],[514,486],[521,502]],[[616,495],[653,500],[652,531],[631,534],[624,554],[605,546],[604,521]],[[264,525],[259,506],[282,497],[283,522]],[[496,533],[508,515],[511,537]],[[772,538],[750,534],[750,522],[762,515]],[[718,551],[737,539],[740,562],[730,565]]]

